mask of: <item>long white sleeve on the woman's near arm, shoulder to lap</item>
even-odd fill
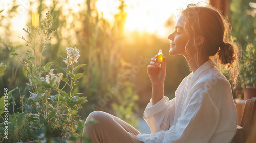
[[[165,105],[167,106],[167,105]],[[159,120],[160,121],[160,120]],[[176,125],[167,131],[139,134],[147,142],[209,142],[219,121],[219,112],[207,91],[195,91]]]

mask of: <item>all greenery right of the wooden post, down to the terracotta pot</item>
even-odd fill
[[[230,2],[230,23],[232,34],[237,38],[243,48],[241,58],[241,74],[239,86],[255,86],[255,32],[256,32],[256,8],[255,2],[250,1],[231,1]],[[239,87],[238,86],[238,87]],[[239,88],[241,88],[239,87]]]

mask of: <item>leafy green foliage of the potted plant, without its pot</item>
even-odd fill
[[[256,38],[251,40],[246,36],[247,45],[243,54],[243,64],[241,71],[242,86],[256,87]]]

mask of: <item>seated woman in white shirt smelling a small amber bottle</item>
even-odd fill
[[[232,84],[239,76],[239,46],[229,41],[225,19],[216,9],[190,4],[178,19],[170,55],[183,55],[192,71],[179,85],[176,97],[163,95],[166,57],[162,65],[151,59],[147,73],[152,99],[144,119],[151,134],[140,134],[129,124],[108,113],[96,111],[85,127],[93,142],[231,142],[236,134],[237,113],[229,81],[216,67],[225,65]],[[216,66],[215,66],[216,64]]]

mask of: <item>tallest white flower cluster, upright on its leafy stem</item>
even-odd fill
[[[80,57],[80,50],[73,48],[73,47],[66,47],[67,51],[67,59],[63,60],[66,65],[73,65],[73,63],[78,62],[78,58]]]

